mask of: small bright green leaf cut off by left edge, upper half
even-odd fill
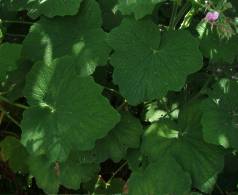
[[[17,61],[21,57],[22,46],[14,43],[0,45],[0,81],[5,79],[6,73],[17,68]]]

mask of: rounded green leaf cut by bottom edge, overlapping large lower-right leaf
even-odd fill
[[[190,191],[188,173],[170,156],[135,171],[129,179],[129,195],[186,194]]]

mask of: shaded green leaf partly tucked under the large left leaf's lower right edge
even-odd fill
[[[121,121],[103,139],[96,142],[94,153],[99,162],[111,158],[119,162],[126,156],[128,148],[137,148],[143,129],[140,122],[129,113],[123,113]]]

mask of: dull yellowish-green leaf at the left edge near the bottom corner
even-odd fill
[[[9,163],[14,172],[27,172],[28,153],[23,145],[14,137],[6,137],[0,142],[0,153],[3,161]]]

